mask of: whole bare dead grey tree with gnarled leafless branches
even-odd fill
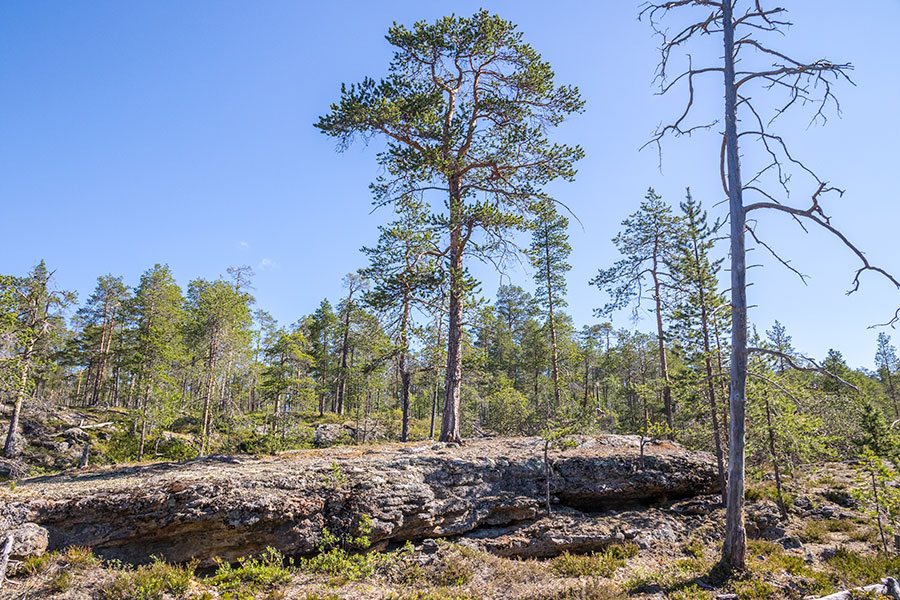
[[[730,371],[730,440],[728,461],[728,506],[726,535],[722,551],[725,564],[745,567],[746,532],[744,529],[744,426],[745,391],[747,381],[747,290],[745,233],[769,251],[784,266],[794,269],[765,243],[756,231],[755,222],[747,222],[747,214],[770,209],[787,215],[806,231],[808,224],[817,225],[837,237],[860,260],[851,288],[859,288],[860,276],[873,271],[886,277],[898,289],[898,282],[884,269],[871,264],[866,256],[839,229],[832,225],[821,201],[828,195],[842,196],[843,190],[820,178],[805,163],[796,158],[776,131],[778,119],[788,111],[806,107],[811,110],[810,124],[824,124],[827,113],[840,114],[840,104],[832,88],[838,82],[853,84],[849,63],[827,59],[812,62],[798,60],[776,49],[769,40],[783,34],[790,26],[783,8],[766,8],[762,0],[651,0],[643,5],[642,19],[649,21],[661,39],[660,62],[656,78],[659,94],[683,90],[687,95],[684,108],[671,123],[661,125],[645,146],[655,146],[662,152],[662,142],[668,137],[690,136],[695,132],[714,129],[720,119],[707,119],[695,113],[697,89],[706,86],[707,75],[715,74],[724,82],[724,129],[719,159],[722,188],[728,198],[731,254],[731,317],[732,347]],[[664,21],[679,20],[673,29]],[[704,36],[721,36],[724,55],[721,63],[695,65],[687,55],[687,65],[676,76],[669,71],[673,53],[699,43]],[[706,89],[705,87],[703,88]],[[757,95],[755,95],[757,94]],[[744,181],[741,174],[739,146],[757,144],[764,157],[753,165],[752,175]],[[794,206],[787,202],[791,189],[809,186],[810,202]],[[744,203],[744,193],[755,196]],[[900,319],[900,310],[891,323]]]

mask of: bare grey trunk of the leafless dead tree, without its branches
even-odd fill
[[[731,2],[722,3],[725,33],[725,154],[728,164],[728,206],[731,225],[731,413],[728,449],[728,499],[722,560],[734,569],[746,567],[744,529],[744,420],[747,385],[746,249],[740,154],[737,136],[737,88],[734,81],[734,18]]]

